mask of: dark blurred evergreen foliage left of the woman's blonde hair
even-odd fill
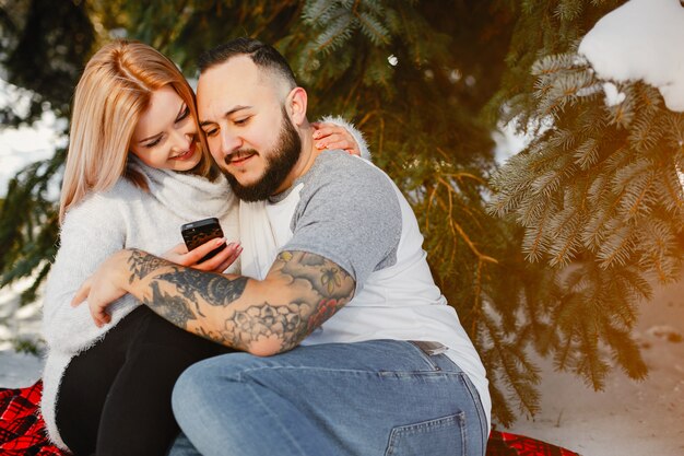
[[[94,43],[93,24],[83,3],[8,0],[0,4],[0,62],[3,79],[28,98],[0,107],[2,128],[31,125],[45,110],[67,116],[73,87]],[[12,95],[12,94],[9,94]],[[15,95],[14,95],[15,96]],[[9,184],[0,207],[0,287],[35,274],[22,302],[36,299],[56,253],[57,207],[48,198],[64,161],[63,149],[50,160],[22,169]]]

